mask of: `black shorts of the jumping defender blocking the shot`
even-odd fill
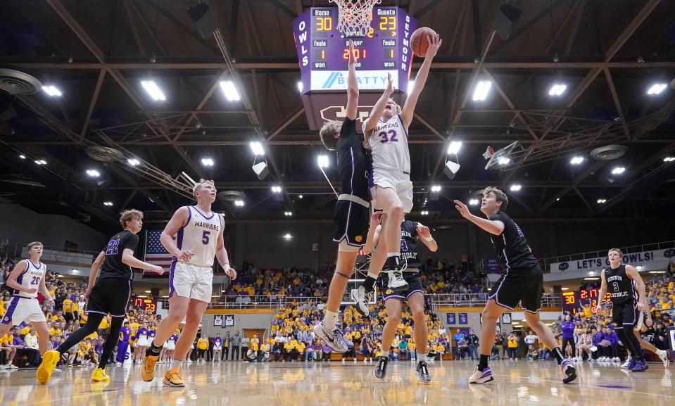
[[[358,251],[365,245],[370,224],[370,208],[348,200],[339,200],[335,205],[335,235],[333,241],[340,243],[341,251]]]

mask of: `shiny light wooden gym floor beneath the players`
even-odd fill
[[[619,364],[578,367],[579,378],[564,385],[554,362],[491,362],[495,380],[469,385],[475,362],[431,365],[431,383],[415,378],[414,364],[389,362],[384,381],[374,378],[374,362],[192,363],[184,368],[185,388],[162,384],[167,364],[158,364],[153,382],[141,381],[140,366],[108,367],[111,382],[90,383],[92,369],[55,373],[49,385],[34,369],[0,371],[2,406],[304,406],[304,405],[674,405],[672,367],[650,363],[642,374]]]

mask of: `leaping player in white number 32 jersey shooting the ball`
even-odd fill
[[[408,151],[408,127],[412,122],[419,94],[427,82],[431,62],[441,47],[441,38],[436,35],[428,38],[429,47],[422,67],[415,77],[415,84],[405,99],[403,110],[390,96],[393,94],[391,75],[384,93],[363,123],[363,136],[369,142],[372,151],[372,176],[370,180],[372,206],[375,210],[384,210],[381,241],[370,261],[368,276],[363,282],[365,294],[372,295],[375,280],[382,266],[391,272],[389,287],[395,291],[405,291],[408,284],[403,279],[401,269],[405,261],[400,260],[400,224],[405,213],[412,210],[412,182],[410,182],[410,151]],[[391,224],[391,226],[387,226]],[[403,262],[403,263],[402,263]],[[357,299],[357,301],[359,301]]]

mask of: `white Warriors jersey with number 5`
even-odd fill
[[[190,217],[187,224],[176,234],[176,245],[180,250],[192,253],[189,262],[198,267],[213,267],[215,244],[218,241],[221,222],[220,215],[211,212],[210,217],[200,212],[194,206],[187,206]]]

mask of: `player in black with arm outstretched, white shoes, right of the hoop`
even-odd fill
[[[455,208],[470,222],[490,233],[497,256],[506,269],[498,285],[483,310],[483,329],[481,331],[481,359],[478,367],[469,376],[469,383],[485,383],[493,380],[488,367],[488,357],[495,343],[497,319],[505,310],[513,310],[520,302],[525,311],[527,324],[536,332],[539,340],[548,348],[553,348],[553,356],[564,374],[564,383],[576,379],[576,369],[572,362],[562,356],[553,331],[539,318],[543,274],[532,250],[527,245],[523,231],[504,210],[509,203],[506,194],[500,189],[488,187],[483,192],[481,212],[487,220],[469,212],[464,203],[455,200]]]

